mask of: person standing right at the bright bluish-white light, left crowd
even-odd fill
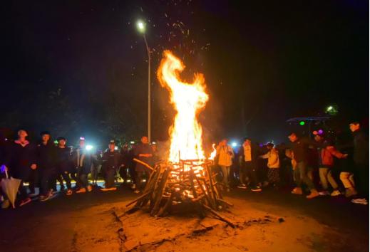
[[[72,157],[73,166],[76,167],[76,183],[78,184],[78,190],[76,193],[85,193],[86,191],[92,191],[93,187],[88,184],[88,174],[91,172],[92,155],[86,149],[85,138],[81,137],[79,147],[73,151]]]

